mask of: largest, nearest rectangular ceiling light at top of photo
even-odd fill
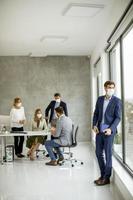
[[[64,10],[63,15],[71,17],[94,17],[104,8],[102,4],[72,3]]]

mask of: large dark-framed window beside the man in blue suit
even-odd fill
[[[133,174],[133,26],[117,40],[109,55],[111,79],[116,83],[116,95],[123,102],[114,151]]]

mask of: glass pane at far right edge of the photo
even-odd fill
[[[133,28],[123,38],[125,161],[133,169]]]

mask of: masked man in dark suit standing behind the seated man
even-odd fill
[[[48,122],[51,123],[52,126],[56,124],[57,117],[55,115],[55,108],[59,106],[63,108],[64,114],[68,116],[66,103],[61,100],[61,95],[59,93],[55,93],[54,100],[50,102],[50,104],[45,110],[46,121],[47,123]],[[50,111],[50,117],[49,117],[49,111]]]

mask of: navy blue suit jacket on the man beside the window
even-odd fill
[[[104,98],[105,96],[98,97],[93,116],[93,127],[97,126],[99,130],[103,116]],[[116,133],[117,126],[121,120],[121,109],[122,109],[121,100],[116,96],[112,96],[104,114],[104,123],[109,125],[112,134]]]

